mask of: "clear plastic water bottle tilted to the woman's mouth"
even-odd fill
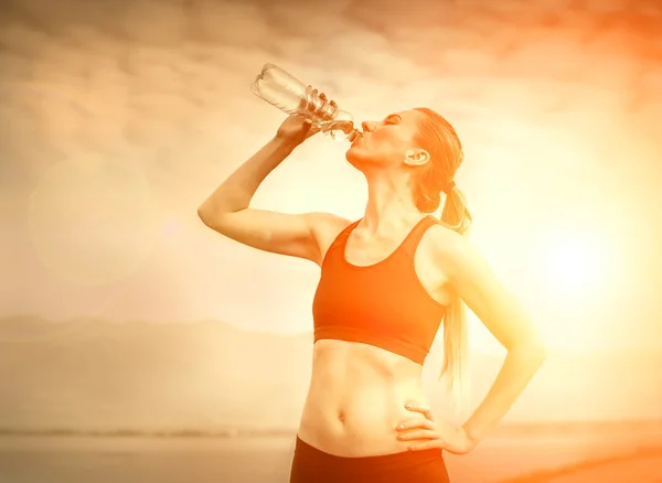
[[[274,64],[265,64],[253,94],[289,115],[303,115],[334,140],[353,141],[361,133],[350,112],[324,101],[312,88]]]

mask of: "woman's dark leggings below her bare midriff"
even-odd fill
[[[297,437],[290,483],[448,483],[441,450],[335,457]]]

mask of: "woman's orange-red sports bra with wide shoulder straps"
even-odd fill
[[[446,309],[420,283],[414,255],[438,221],[425,216],[395,251],[365,267],[345,258],[348,238],[360,222],[338,235],[322,262],[312,303],[314,341],[361,342],[423,365]]]

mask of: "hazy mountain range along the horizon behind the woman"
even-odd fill
[[[434,407],[436,346],[424,376]],[[472,352],[472,406],[503,354]],[[295,430],[310,378],[312,333],[191,323],[0,320],[4,431]],[[552,353],[506,416],[512,423],[662,419],[662,354]],[[461,417],[458,416],[458,417]]]

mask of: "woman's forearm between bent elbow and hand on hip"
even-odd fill
[[[542,344],[509,350],[488,395],[463,425],[465,431],[474,444],[505,416],[545,357],[546,351]]]

